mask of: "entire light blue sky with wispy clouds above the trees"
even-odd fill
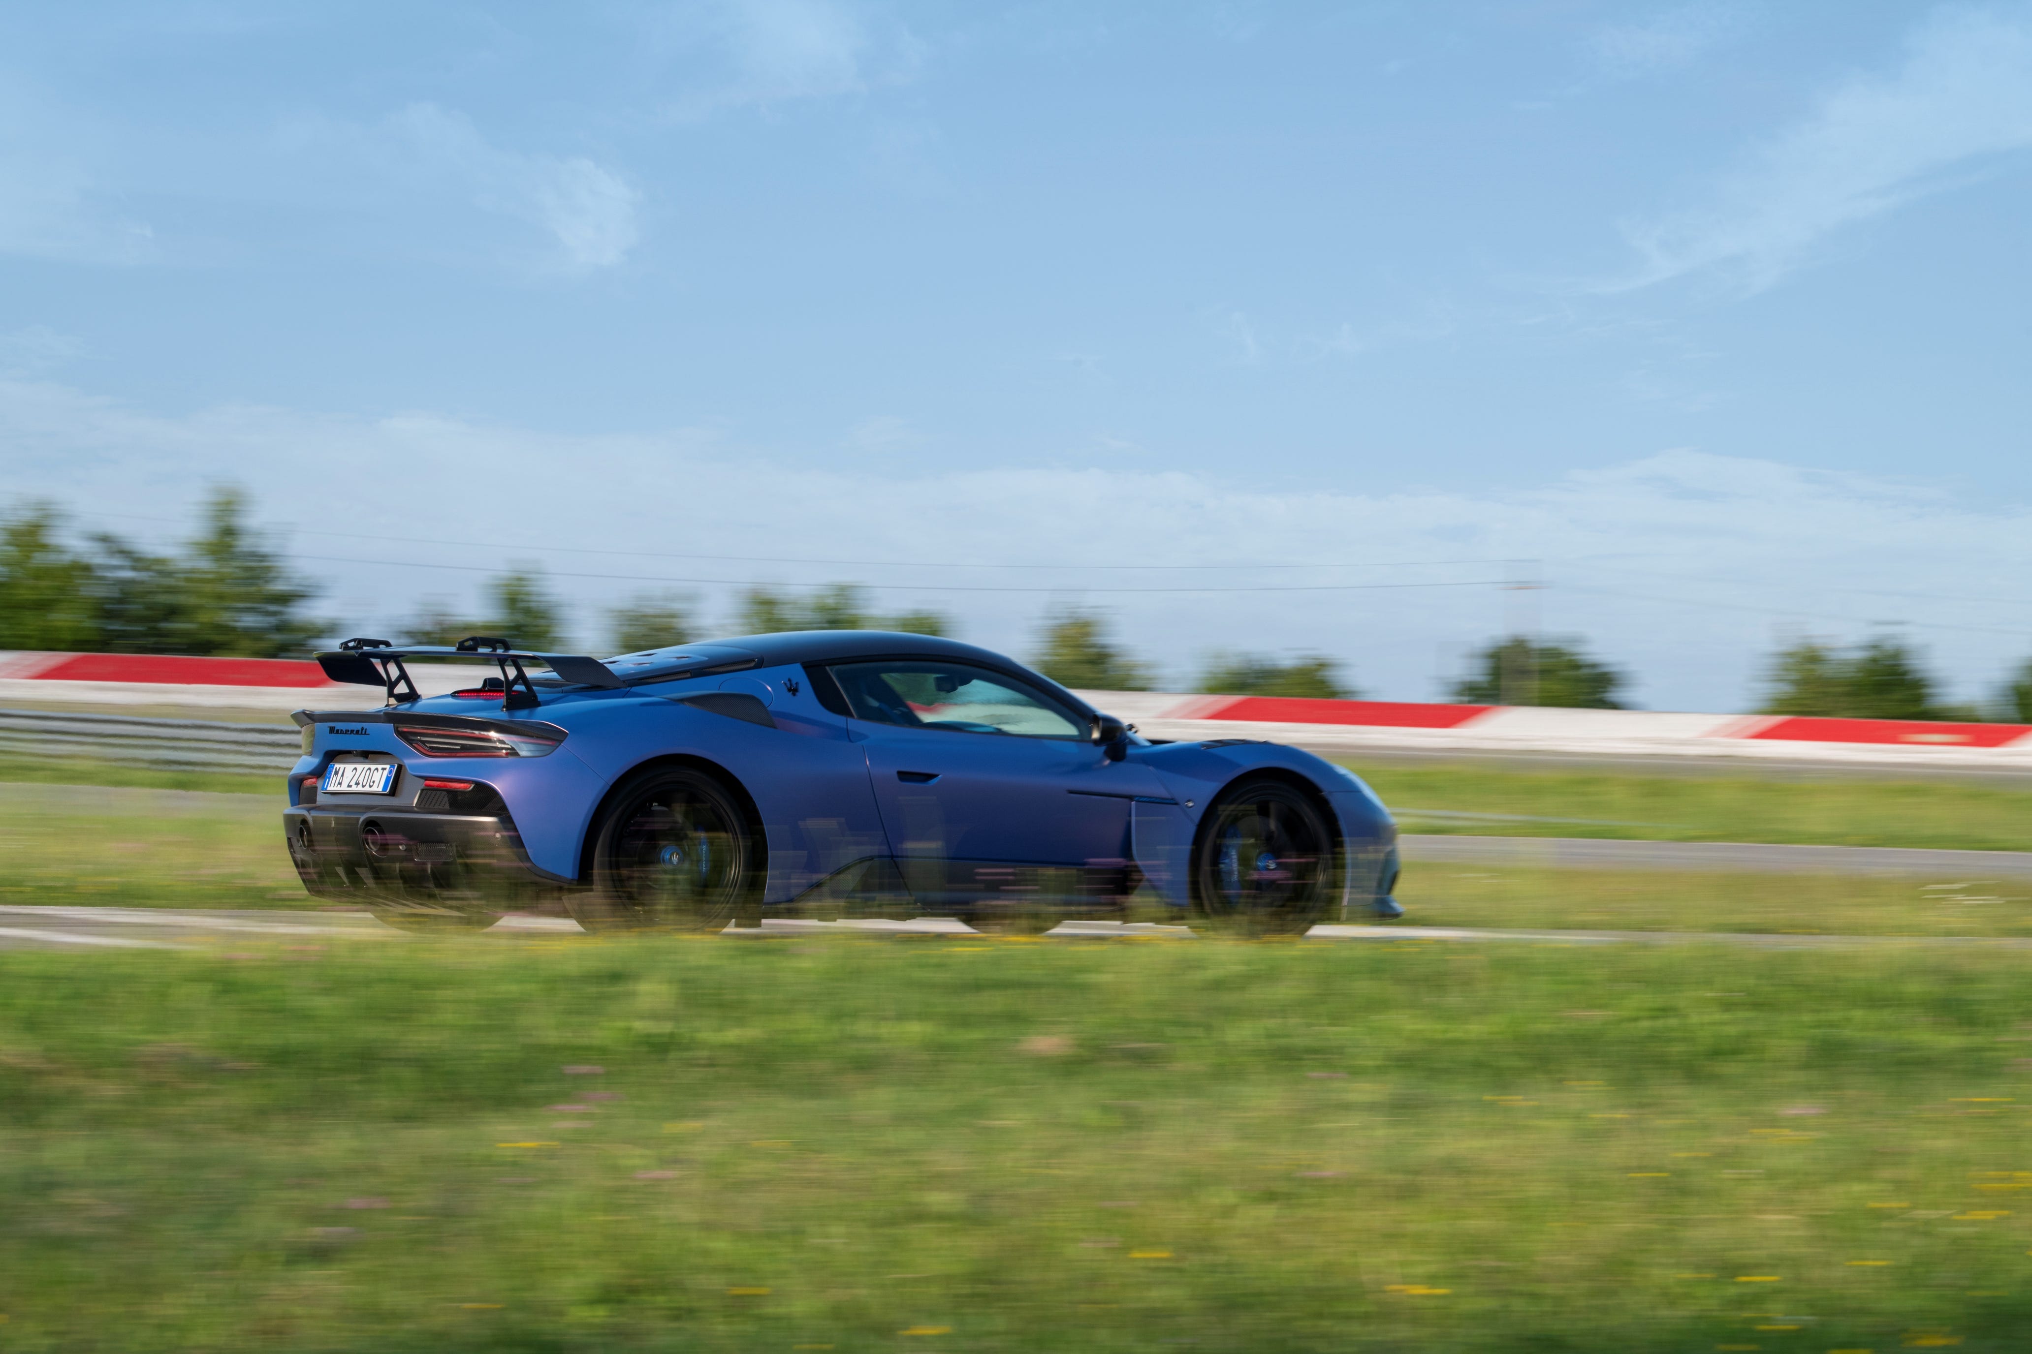
[[[2032,658],[2032,4],[0,4],[0,507],[335,633],[860,583],[1189,688]],[[1518,587],[1534,585],[1534,587]]]

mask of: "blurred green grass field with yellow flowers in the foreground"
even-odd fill
[[[4,952],[0,1344],[2026,1348],[2018,958],[1581,954]]]

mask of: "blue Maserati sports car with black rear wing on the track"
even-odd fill
[[[421,696],[404,660],[498,676]],[[1254,739],[1140,737],[953,639],[801,631],[593,660],[475,635],[319,654],[372,710],[299,710],[305,887],[408,928],[563,899],[587,930],[957,916],[1298,934],[1398,916],[1396,824],[1353,773]]]

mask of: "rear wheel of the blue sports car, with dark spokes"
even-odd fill
[[[599,820],[593,887],[569,899],[571,916],[589,932],[760,926],[762,861],[762,836],[723,782],[650,769]]]

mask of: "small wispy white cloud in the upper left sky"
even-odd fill
[[[585,156],[522,154],[488,142],[465,114],[410,104],[390,120],[396,136],[473,203],[549,231],[567,268],[612,268],[640,240],[640,193]]]

